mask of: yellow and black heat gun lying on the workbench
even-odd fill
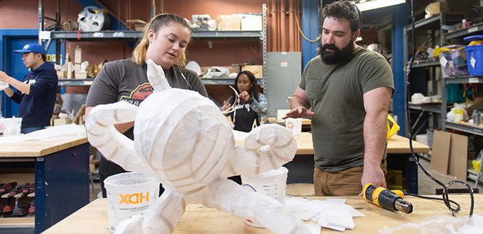
[[[369,203],[390,211],[412,213],[412,204],[403,200],[403,197],[404,193],[401,190],[387,190],[372,183],[364,185],[363,198]]]

